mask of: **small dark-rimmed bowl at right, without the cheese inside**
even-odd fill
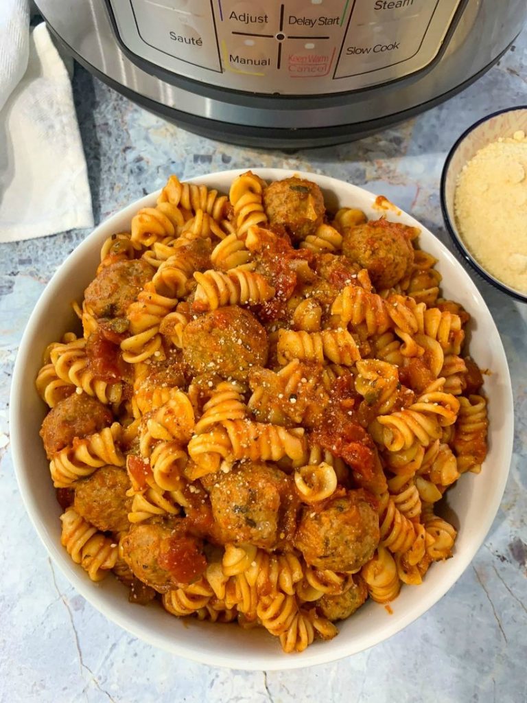
[[[454,217],[455,186],[457,177],[464,165],[487,144],[497,141],[500,137],[512,136],[514,132],[519,130],[523,130],[527,134],[527,105],[499,110],[475,122],[457,139],[446,157],[443,173],[441,174],[440,194],[441,212],[443,213],[446,228],[462,257],[469,262],[476,273],[479,273],[484,280],[491,283],[495,288],[507,293],[507,295],[516,300],[527,302],[526,293],[510,288],[506,283],[497,280],[474,259],[457,231]]]

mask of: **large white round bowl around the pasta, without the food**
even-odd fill
[[[295,173],[282,169],[256,170],[268,181]],[[239,173],[226,171],[200,176],[195,181],[227,193]],[[379,210],[372,207],[375,201],[372,193],[327,176],[299,175],[318,183],[332,209],[353,205],[363,209],[368,217],[379,217]],[[157,195],[146,195],[98,226],[53,276],[27,323],[11,391],[11,446],[27,512],[53,560],[86,600],[136,637],[181,657],[233,669],[296,669],[332,662],[372,647],[417,619],[453,586],[481,546],[500,505],[512,453],[513,406],[505,352],[493,318],[467,273],[434,235],[409,215],[389,212],[389,219],[421,227],[422,248],[439,259],[437,268],[443,274],[445,297],[459,301],[472,316],[470,353],[481,368],[492,371],[485,377],[490,442],[483,471],[478,476],[463,475],[448,491],[448,506],[459,528],[454,557],[433,564],[422,586],[404,586],[391,604],[393,614],[369,601],[339,624],[339,635],[330,642],[313,643],[301,654],[282,654],[278,640],[259,629],[246,631],[235,625],[177,619],[157,604],[131,605],[126,589],[116,579],[108,577],[100,584],[92,583],[60,546],[61,511],[39,437],[46,408],[37,396],[34,379],[46,344],[72,328],[74,315],[70,303],[82,298],[84,288],[92,280],[103,241],[112,233],[128,229],[138,209],[154,205]]]

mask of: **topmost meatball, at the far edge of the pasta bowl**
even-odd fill
[[[282,225],[301,241],[323,223],[324,196],[316,183],[300,178],[274,181],[263,191],[263,206],[271,225]]]

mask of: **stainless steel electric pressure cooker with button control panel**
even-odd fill
[[[182,127],[256,146],[349,141],[495,63],[526,0],[37,0],[94,75]]]

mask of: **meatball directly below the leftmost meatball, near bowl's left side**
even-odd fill
[[[130,487],[124,469],[101,466],[75,489],[75,510],[97,529],[122,532],[129,529],[128,513],[131,498],[126,498]]]

